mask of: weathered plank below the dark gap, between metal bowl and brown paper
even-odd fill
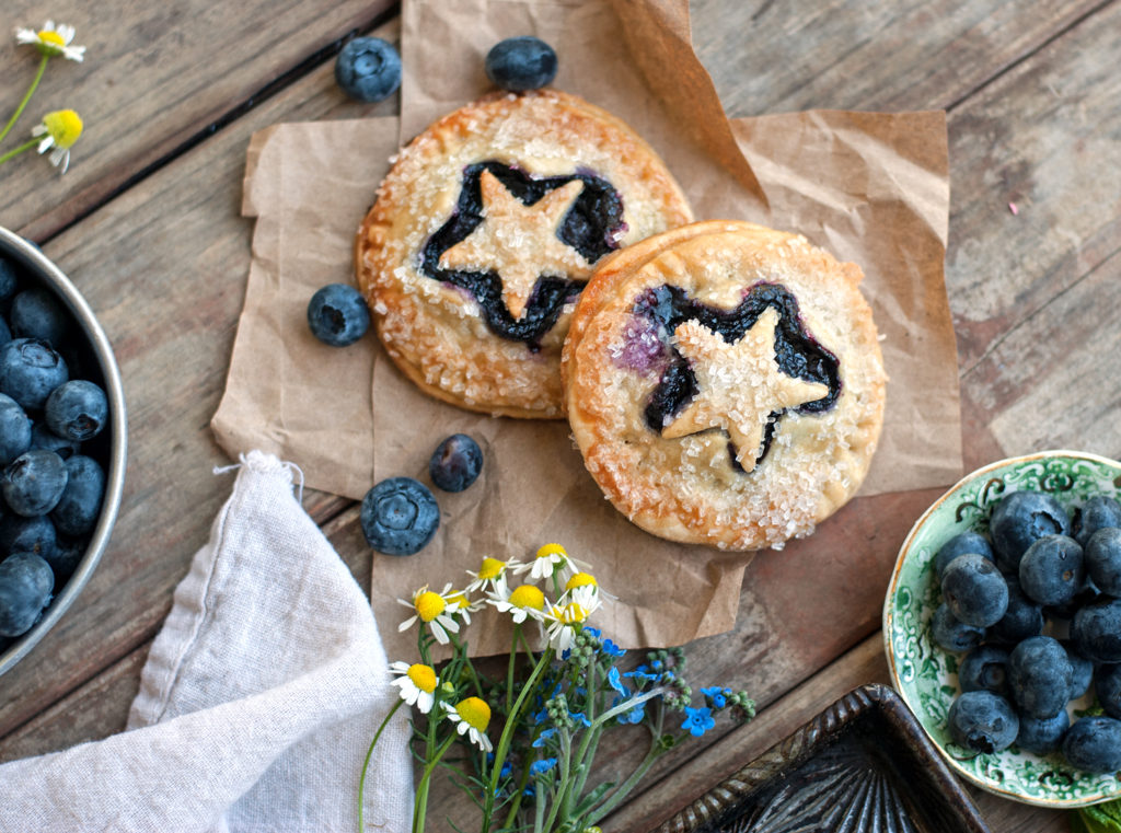
[[[210,418],[249,268],[252,225],[239,210],[250,135],[279,121],[395,110],[393,100],[373,108],[340,100],[333,67],[321,66],[44,247],[113,344],[129,408],[129,468],[113,537],[90,583],[3,676],[0,737],[151,638],[229,494],[232,475],[211,473],[230,461]],[[346,506],[308,499],[323,517]]]

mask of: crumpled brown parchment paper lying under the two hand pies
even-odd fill
[[[684,0],[407,0],[399,119],[280,124],[251,140],[242,207],[257,217],[253,258],[213,420],[231,456],[272,452],[299,465],[307,485],[354,499],[386,476],[427,482],[428,456],[448,434],[480,441],[480,480],[458,494],[436,492],[442,522],[432,544],[408,558],[374,556],[371,602],[393,657],[416,651],[415,633],[397,632],[408,611],[396,600],[424,584],[462,586],[487,554],[525,559],[540,544],[563,543],[617,596],[593,621],[624,647],[679,645],[730,629],[751,559],[670,544],[632,526],[584,470],[565,423],[458,410],[414,388],[374,337],[336,350],[307,332],[312,293],[353,279],[352,238],[389,157],[433,119],[487,92],[487,50],[524,34],[557,49],[557,87],[615,112],[650,141],[697,219],[796,230],[864,268],[862,289],[883,334],[891,382],[861,496],[945,485],[962,471],[943,281],[948,177],[941,112],[726,120],[693,53]],[[659,67],[674,72],[663,76]],[[861,499],[841,511],[863,511]],[[826,520],[798,557],[812,562],[830,546]],[[482,617],[471,629],[472,652],[506,650],[508,633],[495,617]]]

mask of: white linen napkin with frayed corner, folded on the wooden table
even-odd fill
[[[250,452],[233,468],[127,730],[0,766],[0,830],[358,830],[362,761],[397,693],[373,613],[293,466]],[[367,830],[409,827],[408,734],[402,709],[367,776]]]

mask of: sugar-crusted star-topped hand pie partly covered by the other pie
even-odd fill
[[[615,117],[555,91],[495,94],[401,150],[355,266],[387,352],[423,390],[562,417],[560,348],[595,265],[691,220],[663,161]]]

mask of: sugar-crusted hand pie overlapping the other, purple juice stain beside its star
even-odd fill
[[[722,549],[809,535],[859,489],[883,422],[861,270],[710,221],[605,258],[564,346],[568,420],[614,506]]]

